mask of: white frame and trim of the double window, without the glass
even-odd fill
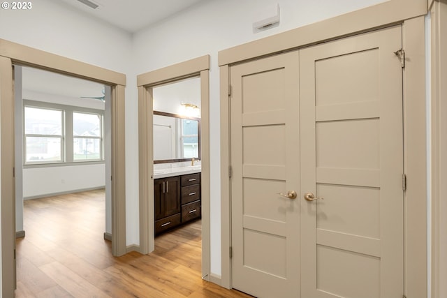
[[[25,108],[33,107],[43,110],[61,110],[62,117],[62,135],[61,135],[61,161],[27,161],[27,137],[30,134],[25,133]],[[64,165],[87,165],[87,164],[96,164],[96,163],[105,163],[104,156],[104,114],[105,110],[98,110],[90,107],[78,107],[74,105],[62,105],[59,103],[48,103],[38,100],[23,100],[23,129],[22,129],[22,142],[23,142],[23,166],[26,167],[53,167],[53,166],[64,166]],[[99,159],[81,159],[75,160],[73,151],[74,151],[74,140],[75,138],[86,138],[75,136],[73,134],[73,113],[79,114],[96,114],[100,115],[100,126],[101,126],[101,135],[99,137],[89,136],[87,138],[99,139],[100,142],[100,158]],[[31,136],[35,136],[34,134]],[[46,135],[43,135],[46,137]],[[41,137],[41,135],[38,135]],[[50,136],[54,137],[54,135]]]

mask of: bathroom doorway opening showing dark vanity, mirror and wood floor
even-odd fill
[[[169,254],[180,245],[189,254],[201,255],[200,77],[149,88],[156,251]],[[200,262],[188,262],[200,273]]]

